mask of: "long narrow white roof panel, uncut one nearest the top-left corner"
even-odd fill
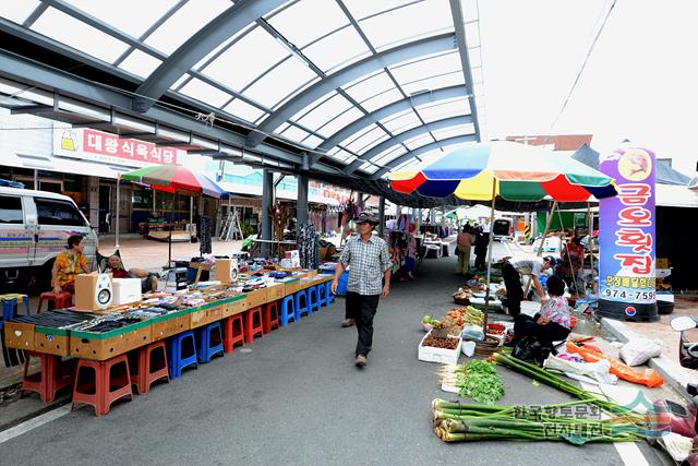
[[[53,8],[46,10],[32,29],[109,63],[129,48],[125,43]]]

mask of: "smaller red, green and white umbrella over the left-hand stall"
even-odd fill
[[[147,184],[151,188],[174,193],[201,193],[212,198],[227,198],[228,193],[218,183],[203,174],[181,165],[154,165],[121,175],[121,179]]]

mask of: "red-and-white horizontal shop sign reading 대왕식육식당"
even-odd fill
[[[53,154],[62,157],[123,167],[147,167],[176,165],[181,152],[87,128],[53,130]]]

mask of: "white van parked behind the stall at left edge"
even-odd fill
[[[0,284],[40,286],[72,235],[85,237],[85,256],[94,262],[97,234],[72,199],[28,189],[0,188]],[[48,290],[48,288],[47,288]]]

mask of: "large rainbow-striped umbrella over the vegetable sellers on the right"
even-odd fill
[[[613,179],[542,146],[508,141],[477,143],[420,167],[388,175],[398,192],[490,201],[585,202],[616,194]]]

